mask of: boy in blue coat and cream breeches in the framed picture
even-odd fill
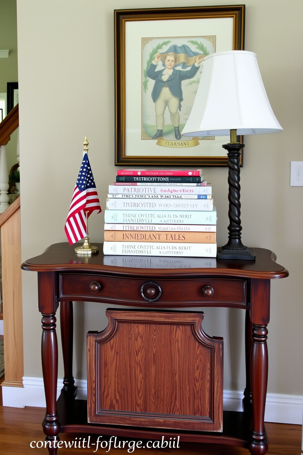
[[[155,81],[151,96],[155,103],[157,132],[152,139],[163,137],[166,106],[169,108],[170,120],[174,126],[174,136],[178,141],[181,139],[178,109],[179,111],[181,110],[181,101],[183,101],[182,81],[195,76],[203,58],[203,55],[197,56],[194,65],[188,71],[181,71],[174,68],[177,63],[177,57],[174,52],[169,52],[164,57],[164,71],[156,71],[161,54],[157,54],[154,57],[154,61],[152,61],[146,72],[147,76]]]

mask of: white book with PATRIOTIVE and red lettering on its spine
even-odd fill
[[[153,185],[143,184],[137,185],[109,185],[110,194],[212,194],[210,184],[205,187],[196,187],[189,185],[173,184],[169,185]]]

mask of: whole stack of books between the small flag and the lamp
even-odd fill
[[[109,185],[104,221],[104,254],[217,254],[216,208],[202,169],[119,170]]]

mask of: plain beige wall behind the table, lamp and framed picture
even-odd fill
[[[184,3],[17,0],[24,260],[42,253],[51,243],[66,241],[64,223],[85,135],[101,204],[105,205],[107,186],[117,170],[113,10]],[[218,3],[238,4],[232,0],[202,2]],[[289,278],[272,282],[268,391],[281,394],[303,394],[303,188],[289,187],[290,161],[303,160],[302,16],[301,0],[246,2],[245,48],[258,56],[269,100],[284,128],[276,135],[246,136],[241,171],[243,242],[272,249],[278,263],[290,272]],[[220,245],[227,239],[227,169],[207,168],[205,175],[214,187]],[[102,241],[103,215],[91,217],[89,229],[93,241]],[[24,272],[22,281],[25,375],[41,376],[36,274]],[[99,330],[106,324],[100,307],[75,305],[77,378],[85,377],[87,330]],[[243,313],[214,308],[206,309],[205,314],[204,330],[224,336],[224,388],[243,389]],[[237,355],[231,354],[234,352]]]

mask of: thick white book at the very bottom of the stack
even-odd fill
[[[216,243],[104,242],[104,254],[215,258]]]

